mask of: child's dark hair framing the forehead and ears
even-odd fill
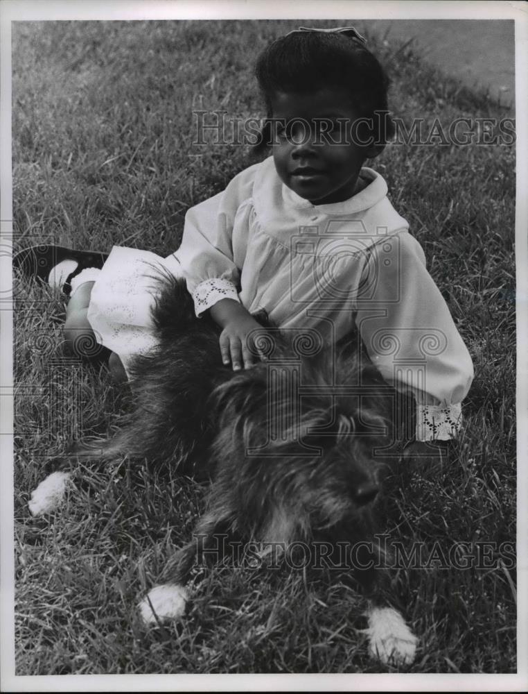
[[[314,92],[343,87],[358,106],[358,117],[372,119],[371,135],[385,145],[394,135],[387,106],[389,78],[360,40],[340,32],[294,31],[272,42],[255,66],[267,117],[276,92]],[[265,146],[265,143],[263,143]],[[258,149],[263,149],[263,146]]]

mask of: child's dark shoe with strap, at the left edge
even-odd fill
[[[71,272],[61,289],[64,294],[71,292],[71,280],[87,267],[102,268],[107,253],[96,251],[73,251],[63,246],[31,246],[13,256],[13,269],[19,270],[26,278],[48,282],[49,273],[63,260],[74,260],[77,267]]]

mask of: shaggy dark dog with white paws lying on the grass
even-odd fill
[[[191,569],[219,538],[227,548],[251,544],[261,559],[272,549],[287,555],[294,545],[325,543],[327,566],[369,598],[371,654],[411,663],[416,637],[382,597],[389,580],[374,540],[382,531],[376,450],[391,441],[394,391],[351,344],[328,354],[314,330],[268,325],[252,341],[265,360],[232,371],[220,358],[218,327],[196,319],[182,280],[165,281],[152,317],[159,344],[131,367],[134,406],[97,453],[146,457],[211,484],[193,539],[170,561],[168,583],[141,602],[143,620],[183,616]],[[56,472],[37,487],[33,514],[58,504],[68,478]]]

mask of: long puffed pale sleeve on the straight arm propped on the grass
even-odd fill
[[[448,440],[461,425],[473,362],[448,306],[409,233],[370,249],[356,325],[373,364],[416,400],[416,439]]]

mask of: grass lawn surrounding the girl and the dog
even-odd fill
[[[249,63],[297,24],[13,24],[15,247],[177,248],[186,210],[254,161],[245,146],[193,145],[191,110],[261,114]],[[369,43],[406,123],[504,115],[412,45]],[[425,249],[476,371],[458,459],[396,475],[387,532],[445,551],[455,541],[514,542],[514,149],[395,144],[375,167]],[[87,468],[60,513],[30,516],[46,462],[71,439],[112,430],[127,395],[104,366],[64,355],[60,296],[20,282],[15,291],[17,674],[392,670],[367,656],[358,595],[309,588],[298,573],[213,570],[183,624],[141,628],[139,595],[191,535],[203,490],[123,460]],[[514,568],[431,562],[397,580],[421,639],[410,672],[516,671]]]

